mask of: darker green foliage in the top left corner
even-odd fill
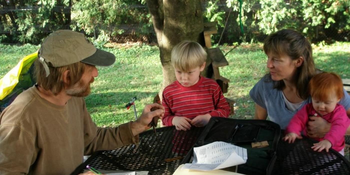
[[[2,42],[40,43],[48,31],[64,28],[70,22],[70,12],[62,13],[69,6],[69,0],[25,0],[11,1],[15,4],[2,2],[1,7],[18,6],[19,9],[3,14],[1,18],[3,31],[7,38],[1,38]],[[6,4],[5,4],[6,3]],[[55,8],[59,6],[62,8]]]

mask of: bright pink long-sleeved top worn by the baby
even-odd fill
[[[300,132],[303,131],[304,135],[307,135],[306,124],[308,122],[308,116],[314,116],[315,113],[316,111],[312,106],[312,103],[304,105],[289,121],[285,134],[294,132],[300,135]],[[346,133],[346,129],[350,124],[350,119],[346,115],[344,107],[340,104],[337,104],[332,112],[322,116],[322,118],[331,123],[330,130],[324,136],[324,138],[314,139],[317,141],[327,139],[331,142],[332,148],[335,151],[341,151],[344,148],[345,144],[344,135]]]

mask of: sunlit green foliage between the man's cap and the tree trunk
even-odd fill
[[[83,29],[88,35],[104,34],[116,37],[123,34],[120,25],[139,24],[139,34],[152,27],[147,8],[138,8],[138,0],[88,0],[76,1],[72,6],[71,27]]]

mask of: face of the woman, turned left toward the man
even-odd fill
[[[279,56],[272,53],[267,54],[267,65],[271,78],[274,81],[292,80],[296,71],[296,61],[289,56]]]

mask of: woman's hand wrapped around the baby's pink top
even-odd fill
[[[323,138],[330,130],[330,123],[322,117],[309,116],[307,135],[310,138]]]

